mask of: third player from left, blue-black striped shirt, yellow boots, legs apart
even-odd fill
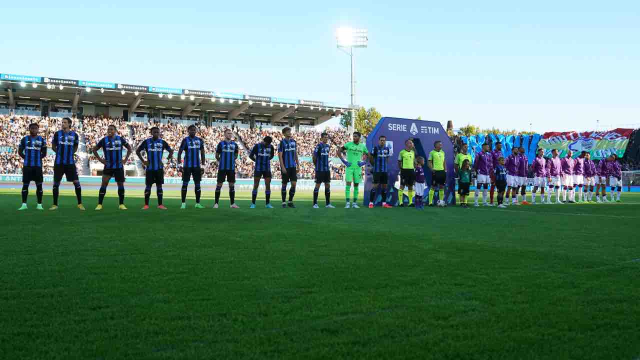
[[[127,149],[127,156],[124,159],[122,158],[123,147]],[[98,154],[99,149],[102,149],[104,158],[100,158],[100,154]],[[129,156],[131,156],[131,152],[133,152],[131,145],[129,145],[125,138],[118,135],[118,129],[116,129],[115,125],[109,125],[107,127],[107,136],[104,136],[91,151],[100,163],[104,164],[102,184],[98,192],[98,206],[96,206],[95,209],[102,210],[102,201],[104,201],[104,195],[107,193],[109,180],[111,180],[111,177],[115,177],[116,184],[118,184],[118,200],[120,202],[118,208],[120,210],[126,210],[127,207],[124,206],[124,165],[129,161]]]

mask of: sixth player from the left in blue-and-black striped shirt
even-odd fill
[[[236,205],[236,159],[238,158],[238,145],[231,136],[230,129],[225,129],[225,140],[218,143],[216,147],[216,160],[218,160],[218,184],[216,184],[216,204],[218,208],[220,200],[220,190],[225,181],[229,184],[229,201],[232,209],[237,209]]]

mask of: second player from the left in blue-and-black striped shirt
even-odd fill
[[[78,209],[84,210],[82,204],[82,188],[78,180],[76,160],[74,154],[78,151],[79,136],[71,129],[72,120],[70,117],[62,118],[61,130],[53,134],[51,149],[56,153],[56,160],[53,165],[53,206],[49,210],[58,209],[58,195],[60,192],[60,181],[62,176],[67,177],[67,181],[72,181],[76,187],[76,200]]]

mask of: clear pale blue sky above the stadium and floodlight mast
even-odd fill
[[[639,2],[429,3],[6,1],[0,72],[348,104],[354,26],[357,102],[385,116],[640,126]]]

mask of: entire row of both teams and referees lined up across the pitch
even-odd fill
[[[58,189],[62,177],[65,176],[67,181],[72,181],[76,188],[76,197],[78,208],[84,209],[82,204],[81,186],[77,177],[77,170],[74,163],[74,152],[77,151],[78,136],[70,129],[72,120],[65,118],[61,121],[61,129],[54,133],[52,138],[52,149],[56,153],[54,161],[54,185],[53,185],[53,205],[50,208],[55,210],[58,208]],[[19,154],[24,159],[23,167],[23,187],[22,187],[22,206],[20,209],[27,209],[26,199],[28,196],[29,183],[36,183],[36,195],[38,197],[38,209],[42,209],[42,158],[46,156],[47,147],[46,140],[42,136],[38,136],[38,125],[29,125],[29,135],[24,136],[19,144]],[[104,164],[102,174],[102,184],[99,190],[99,201],[97,210],[102,209],[102,202],[106,195],[106,188],[111,177],[115,177],[118,184],[118,197],[120,200],[120,209],[126,209],[124,205],[124,167],[123,165],[129,160],[132,148],[127,141],[116,135],[117,129],[111,125],[108,127],[107,136],[102,138],[95,147],[93,154]],[[173,158],[173,149],[163,139],[159,137],[160,131],[157,127],[150,129],[151,137],[140,143],[136,149],[136,154],[145,165],[145,206],[148,209],[151,188],[156,184],[156,194],[158,197],[158,208],[166,209],[162,203],[164,183],[163,172],[163,152],[168,151],[168,160]],[[195,184],[196,208],[204,208],[200,205],[200,181],[203,174],[202,166],[205,163],[204,141],[196,136],[197,128],[195,126],[188,127],[188,136],[180,143],[177,160],[179,163],[182,154],[184,154],[184,162],[182,162],[182,191],[181,208],[186,208],[186,193],[188,184],[193,179]],[[296,191],[297,171],[300,161],[296,152],[296,140],[291,136],[291,129],[286,127],[282,130],[284,138],[278,145],[278,160],[282,168],[282,206],[295,208],[293,203]],[[221,187],[225,181],[229,185],[230,207],[238,208],[235,203],[235,167],[238,156],[239,146],[232,140],[232,131],[225,130],[225,140],[218,143],[216,147],[216,160],[218,160],[218,184],[216,185],[214,208],[218,208]],[[392,208],[387,204],[385,196],[388,185],[387,164],[392,154],[390,148],[386,144],[385,136],[380,136],[376,146],[368,151],[367,147],[360,143],[360,133],[353,133],[353,141],[348,142],[340,147],[339,158],[346,165],[346,208],[358,208],[358,188],[362,181],[362,167],[367,163],[372,165],[373,186],[369,199],[369,208],[374,207],[373,199],[376,195],[380,195],[381,206],[383,208]],[[326,208],[333,208],[330,202],[330,173],[329,173],[329,151],[328,135],[323,133],[320,142],[313,152],[313,163],[316,168],[316,187],[314,189],[314,208],[319,208],[317,197],[319,187],[324,184],[324,195]],[[255,200],[257,197],[257,188],[260,180],[264,179],[266,207],[272,208],[270,204],[270,183],[271,183],[271,167],[270,161],[274,158],[276,151],[271,145],[273,140],[266,136],[262,142],[253,146],[250,152],[250,159],[255,162],[254,186],[252,192],[252,205],[255,208]],[[404,143],[405,147],[398,154],[397,161],[400,168],[401,184],[398,189],[399,206],[404,206],[404,196],[408,197],[408,206],[424,208],[422,195],[426,189],[426,176],[424,173],[425,159],[415,155],[412,140],[408,139]],[[444,201],[444,190],[447,182],[447,168],[445,161],[445,153],[442,150],[442,143],[435,142],[434,149],[429,152],[427,165],[431,170],[431,189],[429,191],[429,206],[433,206],[435,193],[438,193],[437,202],[440,206],[446,206]],[[102,149],[104,158],[100,156],[99,150]],[[123,150],[127,150],[125,158],[122,157]],[[146,153],[146,159],[142,152]],[[346,158],[344,155],[346,154]],[[536,192],[538,188],[541,190],[541,203],[545,203],[545,188],[549,188],[547,192],[547,201],[551,202],[552,192],[556,193],[556,202],[560,201],[560,188],[563,191],[564,202],[575,202],[575,200],[591,201],[593,200],[594,186],[596,200],[600,199],[600,190],[602,190],[602,201],[608,201],[605,195],[607,185],[612,187],[612,200],[620,201],[621,192],[621,169],[615,159],[615,155],[610,156],[607,160],[600,161],[598,167],[590,160],[588,152],[582,152],[578,158],[572,158],[572,153],[566,158],[558,158],[557,151],[553,152],[553,157],[549,159],[543,158],[543,151],[540,149],[536,159],[532,163],[532,170],[535,173],[534,186],[532,191],[532,202],[536,202]],[[476,178],[475,204],[479,206],[479,191],[483,191],[483,203],[486,206],[493,205],[493,192],[498,192],[499,207],[506,206],[504,204],[504,192],[506,189],[506,197],[511,195],[511,203],[519,204],[518,200],[522,196],[522,203],[527,204],[525,193],[525,179],[528,168],[527,157],[524,154],[524,148],[514,148],[513,153],[507,158],[502,156],[502,144],[497,142],[495,149],[489,151],[489,145],[483,145],[483,151],[476,155],[475,159],[467,153],[467,145],[464,144],[461,152],[456,155],[454,161],[454,172],[458,179],[458,193],[460,194],[461,206],[467,206],[467,196],[469,195],[469,187],[472,178]],[[287,201],[287,184],[291,183],[289,188],[289,200]],[[353,183],[353,202],[351,202],[350,191],[351,183]],[[491,185],[490,198],[488,202],[487,190]],[[583,192],[583,188],[586,190]],[[575,190],[579,192],[579,197],[575,198]],[[518,194],[520,190],[520,194]],[[569,200],[567,199],[569,195]],[[617,197],[614,197],[614,194]],[[415,203],[413,202],[415,195]],[[508,201],[506,202],[508,203]]]

